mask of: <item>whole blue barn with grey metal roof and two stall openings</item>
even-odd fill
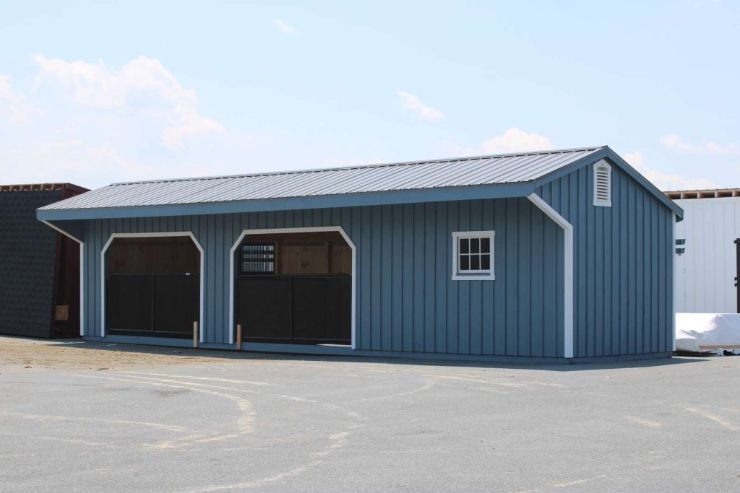
[[[608,147],[117,183],[37,217],[82,246],[93,340],[517,361],[673,348],[682,211]]]

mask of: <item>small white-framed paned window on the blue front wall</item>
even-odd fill
[[[493,231],[452,233],[452,279],[483,281],[495,279]]]

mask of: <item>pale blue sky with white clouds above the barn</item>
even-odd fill
[[[740,187],[740,2],[0,0],[0,183],[609,145]]]

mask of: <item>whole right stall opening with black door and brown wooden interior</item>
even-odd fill
[[[352,250],[341,234],[248,235],[235,255],[244,340],[351,344]]]

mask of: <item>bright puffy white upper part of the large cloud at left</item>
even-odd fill
[[[34,56],[34,61],[39,68],[37,90],[53,86],[80,106],[157,122],[161,141],[169,149],[182,147],[196,135],[224,131],[220,123],[198,112],[195,91],[184,88],[159,60],[140,56],[120,69],[43,55]]]

